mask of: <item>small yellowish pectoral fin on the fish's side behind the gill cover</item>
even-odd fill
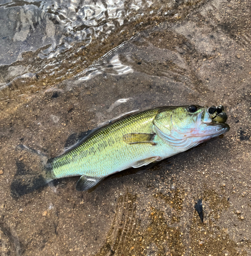
[[[150,133],[128,133],[123,136],[123,141],[129,145],[137,143],[150,143],[156,145],[153,139],[156,134]]]

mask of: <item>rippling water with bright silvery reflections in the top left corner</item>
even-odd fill
[[[16,98],[18,92],[29,96],[49,83],[73,77],[147,25],[175,20],[175,12],[188,3],[15,1],[0,5],[2,100]],[[124,67],[119,72],[129,71]],[[23,79],[24,74],[33,75]],[[29,89],[34,83],[36,91]]]

